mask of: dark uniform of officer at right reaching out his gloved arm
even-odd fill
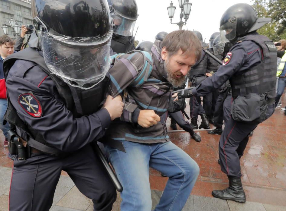
[[[218,89],[227,80],[230,80],[232,86],[233,99],[249,93],[267,92],[266,97],[261,95],[262,100],[267,99],[266,115],[264,114],[261,120],[263,121],[273,114],[275,108],[276,49],[267,37],[257,33],[249,34],[240,40],[242,42],[232,47],[216,74],[204,80],[191,93],[193,96],[203,96]],[[255,105],[242,106],[242,113],[249,112],[247,109],[252,107]],[[259,109],[259,106],[256,107]],[[237,114],[232,112],[232,115]],[[261,121],[237,121],[232,116],[225,124],[219,140],[219,159],[221,170],[228,176],[241,177],[239,155],[243,154],[248,141],[247,135]]]

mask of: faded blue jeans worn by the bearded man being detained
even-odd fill
[[[126,153],[106,146],[109,161],[123,186],[121,210],[152,209],[149,167],[169,177],[164,193],[154,210],[183,209],[200,172],[197,163],[172,142],[122,143]]]

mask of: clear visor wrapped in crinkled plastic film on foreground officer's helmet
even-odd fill
[[[104,37],[74,38],[38,33],[49,70],[67,84],[89,89],[102,81],[110,68],[112,31]]]

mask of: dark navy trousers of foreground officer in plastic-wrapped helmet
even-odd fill
[[[54,193],[64,170],[82,194],[93,200],[94,210],[112,209],[116,191],[90,145],[68,156],[34,153],[27,160],[14,160],[9,210],[44,211],[53,203]]]

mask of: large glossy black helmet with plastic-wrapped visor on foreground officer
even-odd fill
[[[34,26],[49,70],[89,89],[110,67],[112,21],[106,0],[32,1]]]

